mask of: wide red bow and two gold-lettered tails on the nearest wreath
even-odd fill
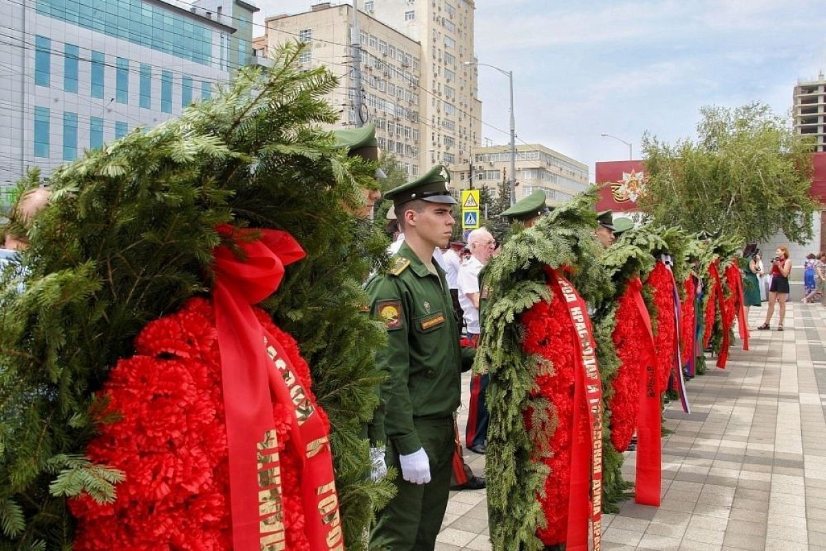
[[[301,461],[304,528],[310,547],[344,549],[324,421],[306,399],[281,344],[266,334],[252,308],[278,288],[284,266],[305,253],[284,231],[227,225],[216,229],[241,252],[235,254],[225,245],[215,249],[212,297],[230,453],[233,549],[286,549],[274,403],[295,413],[290,435]]]

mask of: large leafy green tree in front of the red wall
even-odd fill
[[[639,206],[661,226],[764,241],[812,238],[812,147],[767,105],[703,107],[697,139],[643,138],[648,175]]]

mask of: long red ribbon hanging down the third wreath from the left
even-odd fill
[[[640,343],[645,360],[645,371],[639,378],[639,412],[637,419],[637,467],[634,501],[643,505],[659,506],[662,484],[660,457],[660,397],[657,394],[657,369],[654,367],[654,335],[651,315],[643,300],[643,282],[639,278],[629,281],[625,292],[634,299],[639,316],[645,327],[645,340]]]

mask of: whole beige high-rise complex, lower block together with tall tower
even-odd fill
[[[363,101],[379,145],[410,176],[432,164],[468,163],[481,140],[473,57],[475,6],[468,0],[357,0]],[[316,4],[310,12],[267,19],[267,43],[312,40],[307,63],[339,74],[334,103],[341,124],[354,124],[349,5]],[[331,44],[332,43],[332,44]],[[399,129],[399,122],[402,127]],[[401,139],[401,140],[400,140]],[[383,144],[383,145],[382,145]],[[401,144],[401,145],[400,145]]]

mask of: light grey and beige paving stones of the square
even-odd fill
[[[765,308],[752,307],[752,329]],[[771,331],[752,330],[748,352],[733,343],[725,370],[710,359],[688,383],[691,415],[667,406],[662,503],[604,515],[603,549],[826,551],[826,308],[789,302],[783,332],[776,318]],[[465,454],[483,474],[484,456]],[[626,455],[627,480],[635,459]],[[436,549],[491,549],[483,490],[451,492]]]

